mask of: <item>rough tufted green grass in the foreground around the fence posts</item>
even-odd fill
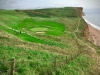
[[[10,61],[15,58],[15,75],[58,75],[74,74],[80,75],[82,71],[88,70],[88,59],[80,55],[73,61],[64,66],[57,67],[54,72],[54,58],[57,58],[57,64],[65,60],[65,56],[55,55],[41,50],[25,50],[23,48],[14,48],[11,46],[0,46],[0,74],[10,73]],[[78,67],[77,67],[78,66]]]

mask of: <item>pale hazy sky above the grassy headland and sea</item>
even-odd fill
[[[44,7],[82,6],[84,8],[100,7],[100,0],[0,0],[0,8],[26,9]]]

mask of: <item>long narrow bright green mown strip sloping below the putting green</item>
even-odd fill
[[[3,27],[1,26],[0,27],[1,29],[25,40],[25,41],[28,41],[28,42],[35,42],[35,43],[42,43],[42,44],[48,44],[48,45],[51,45],[51,46],[58,46],[58,47],[61,47],[61,48],[68,48],[70,46],[68,45],[65,45],[65,44],[61,44],[61,43],[57,43],[57,42],[53,42],[53,41],[48,41],[48,40],[42,40],[42,39],[39,39],[39,38],[36,38],[34,36],[29,36],[28,34],[26,33],[16,33],[15,31],[11,30],[11,29],[8,29],[6,27]]]

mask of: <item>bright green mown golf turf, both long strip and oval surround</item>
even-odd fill
[[[4,20],[4,21],[6,21],[6,20]],[[3,23],[5,23],[5,22],[3,22]],[[12,29],[9,27],[11,27]],[[17,25],[9,26],[9,23],[6,22],[5,24],[2,24],[2,26],[1,26],[2,29],[6,30],[7,32],[10,32],[13,35],[18,36],[19,38],[21,38],[25,41],[35,42],[35,43],[43,43],[43,44],[48,44],[48,45],[55,45],[55,46],[59,46],[59,47],[69,47],[67,44],[64,45],[64,44],[57,43],[56,41],[42,40],[42,39],[34,37],[34,35],[30,36],[29,34],[32,34],[32,31],[30,31],[29,29],[34,28],[34,27],[35,28],[36,27],[48,28],[48,31],[46,31],[46,35],[58,36],[58,35],[63,34],[63,32],[64,32],[64,25],[61,23],[54,22],[54,21],[43,21],[43,20],[41,20],[41,21],[35,20],[34,21],[34,19],[32,19],[32,18],[26,18],[22,22],[18,23]],[[24,31],[25,33],[20,34],[20,31],[23,32],[23,30],[22,30],[23,28],[26,32]],[[18,32],[14,31],[13,29],[17,30]]]

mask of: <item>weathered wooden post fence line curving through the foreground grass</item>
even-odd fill
[[[78,42],[77,42],[78,43]],[[79,45],[79,43],[78,43],[78,45]],[[73,59],[75,59],[75,58],[77,58],[80,54],[81,54],[81,50],[82,50],[82,46],[80,46],[79,45],[79,48],[80,48],[80,51],[77,53],[77,54],[74,54],[74,55],[68,55],[68,56],[70,56],[69,58],[68,58],[68,56],[65,56],[65,59],[64,60],[60,60],[60,61],[57,61],[57,57],[54,57],[54,62],[50,62],[50,63],[48,63],[48,64],[53,64],[53,69],[54,69],[54,71],[56,72],[56,70],[57,70],[57,67],[59,67],[59,66],[63,66],[63,65],[66,65],[66,64],[68,64],[70,61],[72,61]],[[11,61],[8,61],[9,63],[11,63],[11,65],[10,65],[10,67],[11,67],[11,69],[10,69],[10,75],[14,75],[14,71],[15,71],[15,63],[18,63],[18,62],[21,62],[21,61],[23,61],[23,62],[36,62],[36,61],[38,61],[38,60],[43,60],[43,59],[37,59],[37,60],[18,60],[18,61],[16,61],[14,58],[12,58],[12,60]],[[5,62],[5,61],[2,61],[2,62]],[[7,62],[7,61],[6,61]],[[8,63],[7,62],[7,63]],[[61,63],[63,63],[63,65],[61,64]],[[48,65],[47,64],[47,65]],[[60,65],[58,65],[58,64],[60,64]],[[3,70],[4,71],[4,70]],[[6,71],[6,70],[5,70]],[[1,71],[2,72],[2,71]]]

